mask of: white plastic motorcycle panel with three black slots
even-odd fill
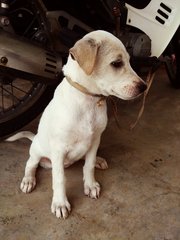
[[[139,28],[151,39],[151,56],[160,57],[180,24],[179,0],[151,0],[144,9],[126,4],[127,25]]]

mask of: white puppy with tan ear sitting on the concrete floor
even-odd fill
[[[65,77],[43,112],[38,132],[32,139],[20,186],[23,192],[31,192],[36,185],[35,173],[40,160],[50,159],[51,210],[58,218],[66,218],[71,210],[66,196],[64,165],[84,158],[84,193],[91,198],[99,197],[100,185],[95,180],[94,168],[101,134],[107,124],[105,97],[114,95],[129,100],[146,89],[146,84],[132,70],[125,47],[108,32],[88,33],[69,53],[63,67]],[[103,159],[97,164],[107,167]]]

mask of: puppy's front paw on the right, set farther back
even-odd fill
[[[93,182],[91,185],[84,184],[84,194],[90,198],[99,198],[100,189],[98,182]]]

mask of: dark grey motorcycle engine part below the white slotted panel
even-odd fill
[[[120,36],[130,56],[149,57],[151,55],[151,39],[144,33],[125,33]]]

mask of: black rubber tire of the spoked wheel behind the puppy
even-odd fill
[[[52,99],[55,86],[38,83],[34,93],[24,97],[24,101],[17,106],[9,108],[8,112],[0,112],[0,139],[18,131],[35,119]],[[1,110],[1,108],[0,108]],[[3,117],[4,116],[4,117]]]

